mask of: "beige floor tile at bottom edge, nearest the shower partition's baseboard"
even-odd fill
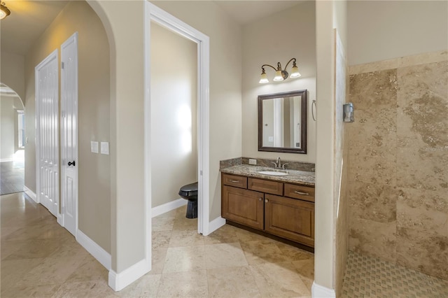
[[[251,265],[262,297],[307,297],[311,292],[290,262]]]

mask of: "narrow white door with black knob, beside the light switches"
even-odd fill
[[[61,155],[63,226],[78,229],[78,32],[61,45]]]

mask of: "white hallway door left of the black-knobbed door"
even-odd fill
[[[59,205],[59,78],[57,50],[36,66],[37,201],[57,216]]]

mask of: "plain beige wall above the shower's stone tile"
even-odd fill
[[[347,8],[349,65],[447,48],[447,1],[348,1]]]

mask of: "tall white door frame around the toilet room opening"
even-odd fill
[[[198,189],[197,189],[197,232],[208,235],[209,230],[209,36],[182,22],[145,1],[144,17],[144,167],[145,167],[145,235],[146,260],[151,264],[151,21],[174,31],[176,34],[197,43],[197,151],[198,151]]]

